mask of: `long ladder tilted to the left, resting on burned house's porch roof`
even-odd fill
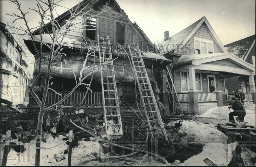
[[[129,53],[132,61],[133,71],[135,74],[136,82],[140,96],[142,97],[142,104],[145,111],[148,130],[161,130],[166,141],[169,143],[164,124],[156,103],[155,95],[147,75],[147,71],[142,60],[141,52],[138,46],[129,48]],[[132,49],[132,51],[131,51]]]

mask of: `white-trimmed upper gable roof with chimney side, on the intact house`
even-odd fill
[[[174,53],[175,53],[175,50],[177,49],[176,44],[183,44],[183,46],[184,46],[203,23],[206,24],[206,28],[208,29],[210,35],[215,40],[215,42],[218,45],[218,47],[220,48],[220,50],[222,52],[227,52],[227,50],[225,49],[223,44],[220,42],[218,36],[212,29],[210,23],[204,16],[201,19],[197,20],[195,23],[191,24],[189,27],[185,28],[184,30],[178,32],[177,34],[173,35],[172,37],[170,37],[167,40],[165,40],[164,42],[162,42],[161,44],[162,44],[163,48],[165,49],[165,53],[167,53],[167,51],[171,52],[172,50],[174,50]],[[168,49],[166,49],[167,46],[168,46]]]

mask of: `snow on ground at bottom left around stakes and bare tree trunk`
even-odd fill
[[[55,139],[49,135],[45,134],[46,143],[41,143],[41,147],[54,147],[60,143],[65,142],[62,140],[65,138],[63,135],[59,135]],[[7,160],[7,166],[18,165],[18,166],[31,166],[35,163],[35,144],[36,140],[31,140],[30,144],[25,144],[26,151],[23,153],[17,153],[11,148]],[[49,166],[49,165],[64,165],[68,164],[68,154],[64,154],[64,150],[68,149],[68,145],[63,143],[57,147],[50,149],[41,149],[40,151],[40,165]],[[90,159],[90,157],[95,158],[99,153],[101,146],[97,140],[95,141],[78,141],[78,146],[72,148],[72,165],[79,165],[84,161],[84,157]],[[55,155],[56,154],[56,155]]]

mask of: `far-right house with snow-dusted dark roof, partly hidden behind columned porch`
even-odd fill
[[[239,41],[225,45],[227,51],[243,61],[254,66],[255,72],[255,35],[243,38]],[[255,82],[255,73],[254,73]],[[235,88],[243,89],[244,93],[250,93],[248,76],[234,76],[227,80],[228,94],[233,94]]]

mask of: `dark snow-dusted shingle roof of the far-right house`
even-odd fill
[[[225,45],[229,53],[232,53],[241,60],[246,60],[247,55],[250,53],[251,48],[255,43],[255,35],[243,38],[241,40],[232,42]]]

